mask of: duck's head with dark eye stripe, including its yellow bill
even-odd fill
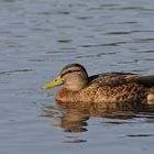
[[[88,84],[88,74],[85,67],[80,64],[69,64],[62,69],[56,79],[47,82],[42,88],[48,89],[63,84],[72,91],[84,89]]]

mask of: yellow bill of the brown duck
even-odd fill
[[[56,79],[54,79],[53,81],[50,81],[47,84],[45,84],[44,86],[42,86],[43,89],[50,89],[50,88],[54,88],[56,86],[61,86],[63,85],[63,80],[61,78],[61,76],[58,76]]]

